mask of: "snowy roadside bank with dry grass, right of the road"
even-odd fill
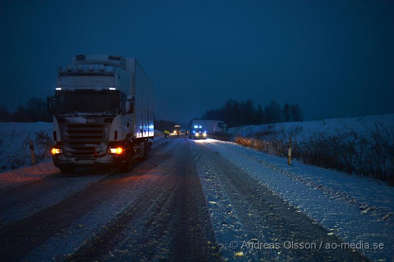
[[[230,129],[232,141],[267,154],[394,183],[394,114]]]

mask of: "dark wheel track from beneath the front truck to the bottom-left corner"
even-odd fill
[[[167,144],[164,143],[162,147]],[[154,153],[149,160],[137,164],[131,174],[106,176],[74,195],[1,229],[0,253],[3,258],[22,258],[57,232],[67,229],[74,221],[99,208],[118,191],[131,186],[138,175],[160,165],[170,154],[170,151],[165,151],[153,157]]]

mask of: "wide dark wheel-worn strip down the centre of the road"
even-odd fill
[[[219,260],[189,142],[161,167],[165,181],[135,201],[70,260]],[[102,250],[102,252],[99,252]]]

